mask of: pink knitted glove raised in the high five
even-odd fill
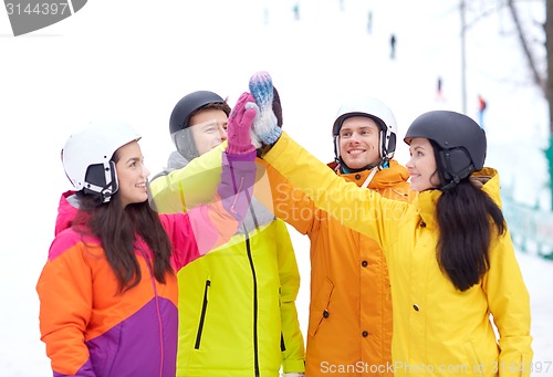
[[[255,100],[250,93],[242,93],[230,113],[229,127],[227,129],[227,154],[244,155],[255,150],[255,147],[251,144],[250,128],[255,118],[257,109],[254,107],[247,108],[246,104],[249,102],[254,103]]]

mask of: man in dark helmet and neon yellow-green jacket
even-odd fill
[[[177,103],[169,122],[177,150],[150,184],[159,212],[182,212],[213,196],[229,112],[227,102],[208,91]],[[255,197],[243,228],[180,270],[178,282],[177,376],[276,377],[280,369],[303,376],[292,242],[285,223]]]

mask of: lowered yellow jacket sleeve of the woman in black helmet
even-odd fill
[[[499,332],[498,369],[501,377],[530,376],[533,352],[530,296],[517,262],[509,231],[495,237],[484,290]]]

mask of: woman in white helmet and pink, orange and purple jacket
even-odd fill
[[[54,376],[174,377],[176,272],[226,242],[249,207],[254,109],[244,93],[229,119],[218,199],[185,213],[148,205],[139,135],[94,125],[70,137],[56,237],[36,290]]]

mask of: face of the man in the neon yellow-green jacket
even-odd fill
[[[228,117],[222,109],[201,109],[190,118],[189,123],[200,156],[227,139]]]

